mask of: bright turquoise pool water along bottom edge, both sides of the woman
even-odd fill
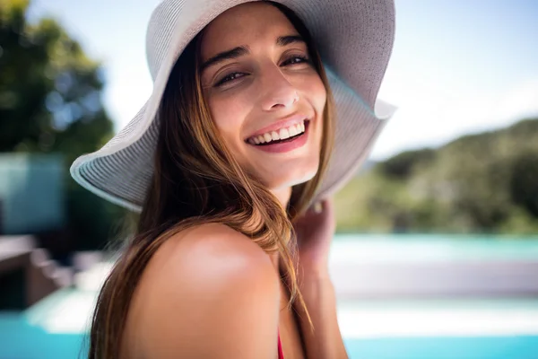
[[[1,359],[83,358],[82,334],[48,333],[21,315],[0,315]],[[536,359],[538,336],[377,337],[344,340],[358,359]]]

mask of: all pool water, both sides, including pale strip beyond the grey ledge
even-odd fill
[[[334,243],[338,263],[538,262],[538,241],[528,239],[362,235]],[[70,288],[27,311],[0,312],[0,359],[84,357],[95,296]],[[339,299],[338,318],[351,358],[538,359],[538,297]]]

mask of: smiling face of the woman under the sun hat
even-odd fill
[[[326,91],[286,16],[233,7],[205,29],[201,57],[205,100],[241,167],[271,190],[314,177]]]

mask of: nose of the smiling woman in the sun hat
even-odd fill
[[[265,111],[290,108],[299,101],[297,89],[279,69],[273,69],[265,74],[263,89],[265,94],[262,98],[262,108]]]

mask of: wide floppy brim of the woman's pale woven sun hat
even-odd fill
[[[153,173],[158,109],[172,67],[195,35],[220,13],[252,0],[165,0],[146,38],[153,78],[150,99],[99,151],[82,155],[71,175],[82,187],[136,212]],[[256,1],[256,0],[255,0]],[[395,107],[377,100],[395,36],[392,0],[277,0],[305,22],[334,95],[334,153],[317,199],[341,188],[368,158]]]

